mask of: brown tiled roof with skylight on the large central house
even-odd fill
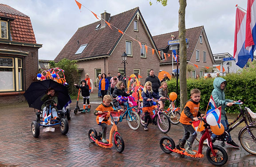
[[[111,16],[109,23],[124,32],[138,10],[139,8],[137,7],[115,16]],[[101,22],[98,21],[78,28],[75,34],[59,52],[54,61],[58,62],[63,58],[79,60],[110,55],[122,34],[119,33],[114,27],[112,27],[111,30],[108,25],[106,25],[104,28],[95,30],[96,26],[100,23]],[[75,54],[79,47],[83,44],[88,44],[85,50],[83,50],[81,54]]]

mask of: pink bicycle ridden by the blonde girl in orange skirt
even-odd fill
[[[170,120],[167,117],[167,115],[165,115],[164,113],[162,113],[159,110],[160,105],[158,104],[158,100],[153,99],[153,101],[155,101],[157,103],[157,108],[153,111],[154,115],[150,115],[150,118],[151,118],[153,124],[157,125],[158,129],[161,132],[167,133],[167,132],[169,132],[169,130],[171,128]],[[145,126],[145,124],[144,124],[145,123],[145,121],[144,121],[145,113],[142,111],[142,107],[141,106],[138,107],[138,112],[139,112],[141,124],[144,127]]]

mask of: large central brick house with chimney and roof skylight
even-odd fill
[[[77,60],[81,80],[88,73],[93,82],[98,74],[111,73],[112,77],[117,76],[118,72],[124,74],[121,58],[124,52],[128,55],[126,76],[139,74],[144,83],[150,69],[159,71],[160,57],[157,51],[152,54],[149,48],[146,53],[145,45],[155,50],[157,47],[138,7],[114,16],[105,11],[101,18],[111,24],[112,30],[104,20],[78,28],[54,61],[59,62],[63,58]],[[125,34],[119,33],[113,26]],[[142,49],[131,37],[142,43]]]

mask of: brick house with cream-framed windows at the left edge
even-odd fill
[[[38,71],[38,49],[29,16],[0,4],[0,104],[22,102]]]

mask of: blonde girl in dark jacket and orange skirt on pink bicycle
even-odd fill
[[[148,129],[148,124],[149,124],[149,119],[150,115],[154,115],[153,110],[155,109],[155,106],[153,104],[152,99],[156,98],[162,98],[161,96],[158,96],[156,93],[153,92],[152,90],[152,83],[150,81],[145,83],[145,86],[143,88],[142,92],[142,98],[143,98],[143,108],[142,111],[145,113],[145,118],[144,118],[144,130],[147,131]]]

